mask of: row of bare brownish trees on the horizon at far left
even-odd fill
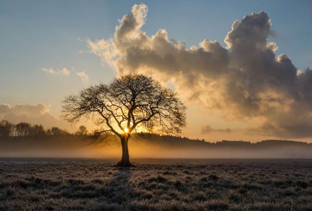
[[[7,120],[0,121],[0,137],[42,137],[42,136],[59,136],[59,135],[86,135],[88,131],[84,125],[81,125],[79,129],[71,134],[67,130],[60,129],[58,127],[51,127],[45,129],[42,124],[29,124],[27,122],[20,122],[13,124]]]

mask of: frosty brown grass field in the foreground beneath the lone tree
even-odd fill
[[[312,160],[1,159],[0,210],[312,210]]]

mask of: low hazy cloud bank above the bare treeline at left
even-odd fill
[[[45,128],[60,127],[71,132],[76,131],[76,125],[71,125],[62,118],[51,115],[47,105],[38,103],[37,105],[0,105],[0,120],[5,119],[14,124],[28,122],[31,124],[42,124]]]

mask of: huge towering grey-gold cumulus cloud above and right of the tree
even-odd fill
[[[174,83],[189,102],[200,101],[228,120],[263,120],[247,133],[312,137],[312,70],[297,73],[288,55],[275,55],[266,12],[234,21],[226,48],[208,39],[187,48],[168,39],[165,29],[148,36],[141,30],[147,12],[146,5],[134,5],[112,38],[87,40],[90,51],[117,73],[150,73]]]

